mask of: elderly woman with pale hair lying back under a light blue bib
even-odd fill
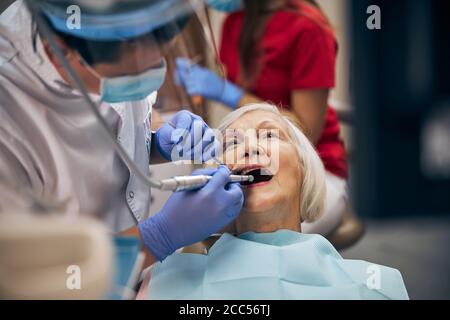
[[[244,185],[238,219],[202,254],[154,266],[150,299],[407,299],[400,273],[344,260],[320,235],[301,233],[324,206],[325,176],[308,139],[277,108],[253,104],[219,127],[224,162]]]

